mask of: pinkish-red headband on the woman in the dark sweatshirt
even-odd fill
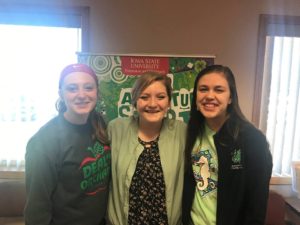
[[[76,64],[70,64],[68,66],[66,66],[60,73],[60,78],[59,78],[59,89],[61,88],[64,79],[66,78],[66,76],[68,76],[70,73],[74,73],[74,72],[84,72],[89,74],[90,76],[92,76],[94,78],[94,80],[96,81],[96,84],[98,85],[98,78],[96,73],[86,64],[81,64],[81,63],[76,63]]]

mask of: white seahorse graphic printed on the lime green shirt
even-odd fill
[[[192,154],[193,173],[201,197],[217,189],[217,166],[209,150]]]

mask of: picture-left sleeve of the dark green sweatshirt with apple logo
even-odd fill
[[[57,183],[54,162],[56,143],[36,135],[28,142],[25,155],[27,201],[24,210],[26,225],[49,225],[52,218],[51,195]]]

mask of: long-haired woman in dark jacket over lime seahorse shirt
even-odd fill
[[[185,161],[183,224],[264,224],[272,158],[228,67],[208,66],[195,80]]]

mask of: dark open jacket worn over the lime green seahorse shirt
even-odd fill
[[[263,225],[272,173],[269,144],[265,135],[249,123],[242,123],[237,138],[228,134],[228,126],[227,121],[214,135],[219,164],[216,225]],[[240,161],[234,159],[237,151]],[[184,177],[184,225],[191,221],[195,187],[190,167]]]

